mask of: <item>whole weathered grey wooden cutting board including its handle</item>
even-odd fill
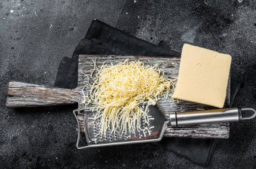
[[[78,108],[83,109],[80,104],[83,100],[82,88],[84,87],[84,74],[90,74],[94,69],[96,60],[97,66],[112,62],[116,64],[126,59],[140,60],[144,64],[158,64],[159,68],[164,70],[166,76],[177,78],[179,73],[180,58],[170,57],[148,57],[148,56],[95,56],[80,55],[78,65],[78,86],[76,89],[59,89],[46,87],[38,84],[28,84],[25,82],[9,82],[7,107],[39,107],[49,105],[68,105],[78,103]],[[92,80],[90,81],[92,82]],[[90,90],[90,87],[85,89]],[[171,95],[171,93],[170,93]],[[228,83],[226,105],[230,102],[230,83]],[[201,109],[214,109],[214,107],[181,101],[179,103],[172,101],[171,98],[160,99],[158,105],[164,111],[166,116],[173,112],[195,111]],[[84,132],[84,113],[78,115],[80,131]],[[200,138],[228,138],[229,123],[187,125],[183,127],[166,128],[164,132],[166,137],[200,137]]]

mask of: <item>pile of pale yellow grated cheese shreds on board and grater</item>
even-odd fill
[[[94,78],[92,76],[94,75]],[[141,129],[141,119],[149,124],[148,106],[156,105],[160,96],[168,93],[172,80],[155,66],[144,66],[143,62],[125,60],[119,64],[100,68],[94,61],[94,70],[86,78],[94,79],[90,92],[84,95],[83,104],[96,111],[95,119],[101,117],[100,134],[135,133]],[[90,106],[89,106],[90,105]]]

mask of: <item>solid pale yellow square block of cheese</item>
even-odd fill
[[[228,54],[184,44],[172,98],[222,108],[230,64]]]

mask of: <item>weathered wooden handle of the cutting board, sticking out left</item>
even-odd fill
[[[6,107],[69,105],[82,99],[78,89],[61,89],[26,82],[9,82]]]

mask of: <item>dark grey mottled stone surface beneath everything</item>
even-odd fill
[[[13,10],[11,13],[10,10]],[[239,1],[1,1],[1,168],[201,168],[154,144],[77,150],[71,107],[7,109],[7,82],[53,85],[92,19],[181,51],[184,43],[232,55],[234,107],[256,108],[256,3]],[[232,123],[210,168],[256,167],[256,119]]]

